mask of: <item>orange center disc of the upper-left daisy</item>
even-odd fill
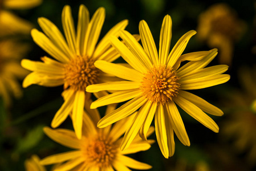
[[[97,83],[99,72],[94,60],[77,56],[65,66],[64,89],[70,87],[75,91],[86,91],[87,86]]]

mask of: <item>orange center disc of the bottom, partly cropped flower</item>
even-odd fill
[[[84,149],[84,154],[86,155],[88,163],[101,168],[112,165],[117,149],[118,146],[112,143],[112,141],[101,137],[88,143],[86,149]]]

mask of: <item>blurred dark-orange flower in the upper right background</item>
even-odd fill
[[[206,41],[209,47],[220,50],[218,59],[221,64],[231,65],[234,43],[245,30],[245,22],[225,3],[210,6],[198,18],[198,39]]]

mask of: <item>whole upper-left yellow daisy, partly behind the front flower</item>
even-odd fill
[[[119,36],[119,31],[128,25],[127,20],[117,23],[96,45],[105,19],[105,9],[100,7],[91,21],[89,17],[87,8],[81,5],[75,31],[71,8],[64,6],[62,25],[66,40],[51,21],[39,18],[39,25],[46,35],[33,29],[32,38],[56,60],[44,56],[41,58],[43,62],[32,62],[27,59],[21,62],[22,67],[34,71],[24,79],[23,87],[31,84],[46,87],[64,85],[64,103],[56,112],[51,127],[58,127],[72,111],[73,126],[79,139],[82,136],[84,102],[86,97],[90,98],[91,95],[86,93],[86,87],[90,84],[120,80],[98,70],[94,62],[97,59],[112,62],[119,58],[119,53],[111,47],[108,38],[111,35]],[[96,97],[102,96],[101,94],[102,92],[94,93]]]

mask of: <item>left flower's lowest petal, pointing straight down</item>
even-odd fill
[[[72,112],[72,122],[78,139],[81,139],[82,137],[83,112],[85,100],[86,95],[84,91],[77,91],[75,94],[74,107]]]

